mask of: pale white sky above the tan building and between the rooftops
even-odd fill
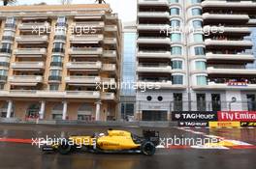
[[[137,0],[105,0],[111,4],[113,13],[117,13],[122,22],[136,20]],[[46,2],[47,4],[60,4],[61,0],[17,0],[16,5],[29,5]],[[91,4],[95,0],[72,0],[73,4]]]

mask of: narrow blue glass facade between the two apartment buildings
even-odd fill
[[[123,23],[123,56],[121,82],[132,84],[136,82],[136,46],[137,31],[136,24],[132,22]],[[136,108],[136,89],[132,85],[123,85],[120,94],[121,119],[134,120]]]

